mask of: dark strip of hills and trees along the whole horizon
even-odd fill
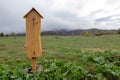
[[[98,30],[98,29],[89,29],[89,30],[73,30],[73,31],[46,31],[42,32],[42,35],[65,35],[65,36],[102,36],[102,35],[120,35],[120,29],[118,30]],[[25,33],[15,33],[11,32],[10,34],[0,33],[0,37],[8,36],[25,36]]]

